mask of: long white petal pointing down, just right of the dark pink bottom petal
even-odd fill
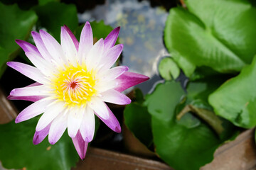
[[[90,107],[86,107],[85,114],[80,126],[82,139],[91,142],[95,133],[95,114]]]

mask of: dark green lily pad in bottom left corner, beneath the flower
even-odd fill
[[[69,170],[78,162],[73,142],[65,132],[55,145],[45,139],[33,145],[38,119],[0,125],[0,161],[6,169]]]

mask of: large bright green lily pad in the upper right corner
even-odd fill
[[[188,10],[170,10],[164,42],[186,76],[201,66],[223,73],[239,72],[252,62],[256,8],[250,1],[185,2]]]

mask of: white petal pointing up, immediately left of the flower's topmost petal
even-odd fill
[[[74,42],[70,38],[70,35],[63,27],[61,27],[60,41],[65,57],[68,62],[75,66],[76,62],[78,62],[78,51],[75,49]]]

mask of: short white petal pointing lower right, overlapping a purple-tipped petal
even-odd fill
[[[100,98],[96,96],[93,97],[92,100],[88,102],[88,105],[97,115],[100,115],[101,118],[108,119],[110,117],[105,103]]]

